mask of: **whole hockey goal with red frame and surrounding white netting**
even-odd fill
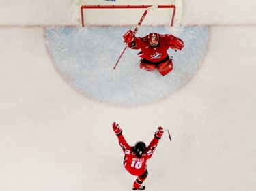
[[[138,19],[147,9],[158,4],[158,8],[152,10],[145,20],[145,26],[173,26],[176,20],[180,19],[182,11],[182,0],[163,0],[156,2],[155,0],[123,0],[120,1],[79,1],[76,3],[76,20],[85,26],[130,26],[137,24]],[[98,2],[98,4],[97,4]],[[141,3],[141,4],[140,4]],[[142,4],[151,3],[151,4]],[[74,6],[74,5],[73,5]],[[79,12],[79,14],[78,14]]]

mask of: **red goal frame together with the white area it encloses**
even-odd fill
[[[141,15],[141,12],[152,5],[81,5],[81,25],[129,25],[134,24],[132,16]],[[171,25],[175,20],[175,5],[158,5],[158,12],[147,16],[146,25]],[[121,14],[121,15],[120,15]],[[93,22],[89,22],[94,18]]]

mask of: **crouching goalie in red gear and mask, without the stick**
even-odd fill
[[[133,31],[129,30],[123,37],[126,46],[141,49],[138,53],[142,58],[139,67],[147,71],[157,69],[162,76],[173,70],[173,61],[169,58],[167,50],[171,48],[177,51],[184,47],[182,39],[171,34],[150,33],[145,37],[135,37]]]

